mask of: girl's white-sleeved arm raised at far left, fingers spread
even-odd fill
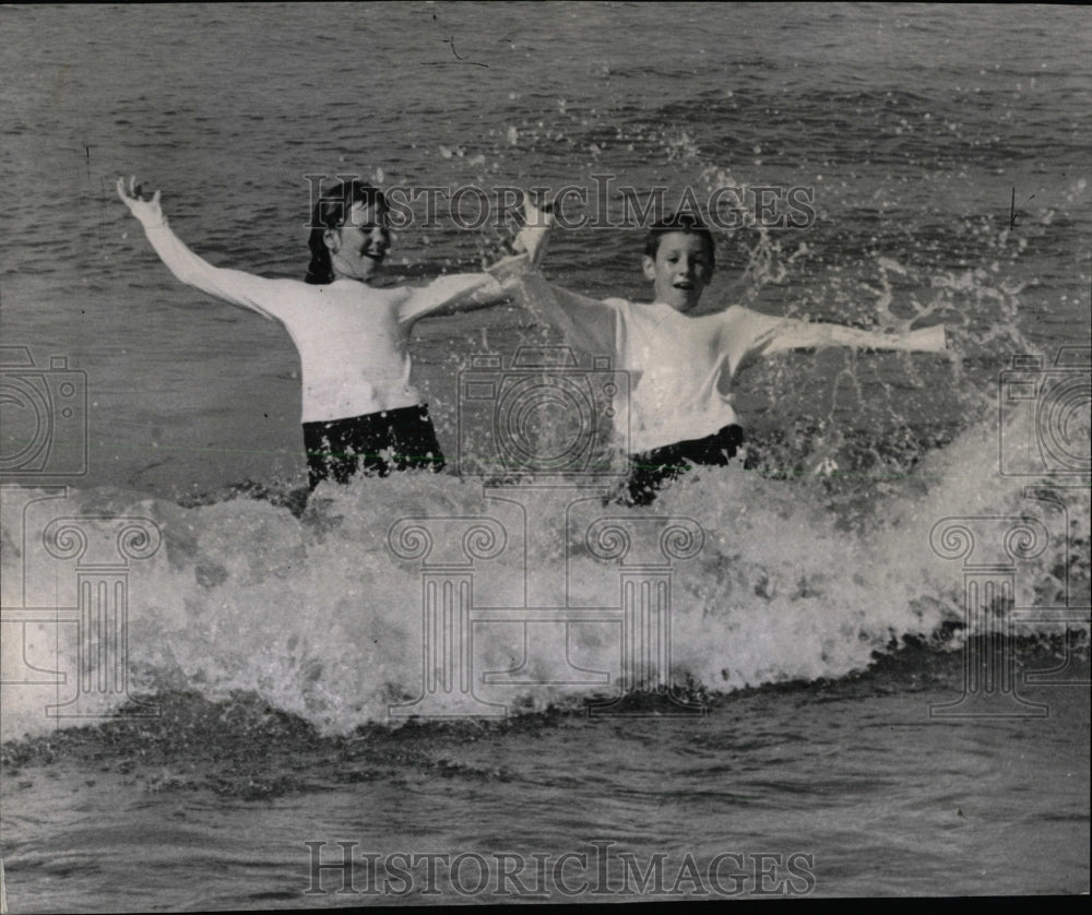
[[[135,177],[129,179],[128,188],[124,178],[118,178],[118,197],[140,221],[147,240],[177,280],[232,305],[257,311],[263,318],[276,320],[276,316],[268,311],[261,300],[268,299],[277,284],[292,281],[265,280],[239,270],[216,268],[202,260],[170,230],[159,206],[159,191],[151,200],[144,200]]]

